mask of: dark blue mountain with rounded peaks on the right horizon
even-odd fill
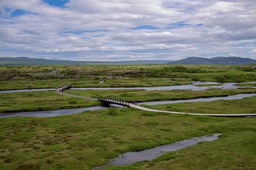
[[[188,57],[182,60],[176,60],[169,64],[256,64],[256,60],[241,57],[214,57],[205,59],[202,57]]]

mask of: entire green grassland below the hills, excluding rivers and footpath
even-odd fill
[[[99,80],[106,78],[100,84]],[[0,66],[0,90],[73,87],[156,87],[192,81],[256,81],[255,66]],[[252,85],[252,84],[250,84]],[[195,99],[255,93],[221,90],[66,90],[87,97],[120,97],[137,102]],[[0,94],[0,113],[97,106],[97,101],[54,91]],[[145,106],[189,113],[256,113],[256,97]],[[202,117],[108,108],[59,117],[0,117],[0,169],[91,169],[120,153],[145,150],[196,136],[221,133],[152,161],[108,169],[255,169],[256,119]]]

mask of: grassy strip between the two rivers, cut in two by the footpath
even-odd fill
[[[86,97],[119,97],[137,102],[163,101],[178,99],[196,99],[204,97],[221,97],[244,93],[256,93],[256,89],[210,89],[192,90],[66,90],[70,94]],[[100,105],[97,101],[87,101],[73,97],[60,96],[54,91],[15,92],[0,94],[0,113],[19,111],[56,110],[64,108],[81,108]]]

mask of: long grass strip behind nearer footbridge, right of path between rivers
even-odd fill
[[[209,90],[67,90],[67,93],[88,97],[118,97],[136,102],[221,97],[243,93],[255,93],[256,89]]]

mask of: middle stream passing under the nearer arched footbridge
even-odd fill
[[[186,99],[186,100],[175,100],[175,101],[151,101],[151,102],[143,102],[138,104],[139,105],[140,104],[155,105],[155,104],[171,104],[171,103],[205,102],[205,101],[218,101],[221,99],[223,100],[224,99],[225,100],[243,99],[244,97],[252,97],[252,96],[256,96],[256,94],[237,94],[237,95],[225,96],[225,97],[210,97],[210,98]],[[120,107],[116,104],[111,104],[111,106]],[[1,113],[0,117],[56,117],[61,115],[77,114],[83,111],[104,110],[106,108],[107,107],[104,107],[104,106],[93,106],[88,108],[63,109],[63,110]]]

